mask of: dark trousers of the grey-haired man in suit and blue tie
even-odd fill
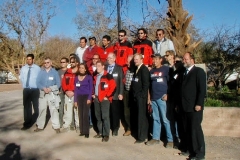
[[[110,104],[110,124],[112,131],[118,130],[120,127],[121,107],[120,100],[113,100]]]

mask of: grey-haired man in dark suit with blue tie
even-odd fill
[[[118,135],[118,129],[120,127],[120,119],[123,117],[123,70],[122,67],[115,63],[116,55],[109,53],[107,56],[108,65],[105,67],[109,74],[111,74],[116,83],[115,93],[113,95],[113,101],[110,106],[110,124],[112,135]]]

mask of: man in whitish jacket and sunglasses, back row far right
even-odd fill
[[[165,37],[164,29],[157,29],[156,31],[156,40],[154,41],[153,50],[155,54],[160,54],[164,56],[167,50],[173,50],[173,42]]]

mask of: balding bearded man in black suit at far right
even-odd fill
[[[201,127],[206,95],[206,74],[202,68],[194,65],[194,55],[187,52],[183,57],[186,71],[182,81],[182,109],[187,134],[187,148],[190,160],[202,160],[205,157],[205,142]]]

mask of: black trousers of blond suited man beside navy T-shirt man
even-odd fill
[[[144,141],[148,138],[147,98],[135,97],[134,105],[137,106],[137,139],[140,141]]]

